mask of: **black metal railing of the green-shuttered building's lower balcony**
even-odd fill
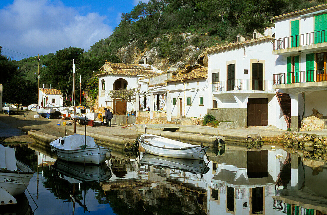
[[[294,84],[304,82],[327,81],[327,69],[315,69],[299,72],[273,74],[274,84]]]

